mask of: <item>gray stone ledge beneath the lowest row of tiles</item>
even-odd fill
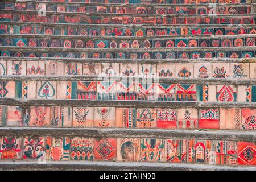
[[[210,164],[146,163],[146,162],[91,162],[91,161],[0,161],[0,170],[101,170],[101,171],[255,171],[253,166],[220,166]],[[99,176],[100,177],[100,176]]]

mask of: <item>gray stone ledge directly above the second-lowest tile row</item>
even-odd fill
[[[24,100],[22,98],[0,98],[0,105],[9,106],[67,106],[67,107],[115,107],[115,108],[196,108],[196,109],[209,109],[209,108],[256,108],[256,102],[196,102],[196,101],[121,101],[121,100],[40,100],[30,99]]]

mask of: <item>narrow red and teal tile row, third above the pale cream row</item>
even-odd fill
[[[0,34],[46,34],[46,35],[81,35],[81,36],[164,36],[164,35],[239,35],[256,34],[255,28],[247,27],[173,27],[173,28],[132,28],[132,27],[75,27],[74,25],[43,26],[8,25],[1,22]]]

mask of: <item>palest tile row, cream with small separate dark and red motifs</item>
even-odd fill
[[[256,63],[119,64],[6,59],[0,61],[0,75],[253,79],[256,78]]]

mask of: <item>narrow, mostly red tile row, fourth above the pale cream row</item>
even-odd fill
[[[42,16],[38,11],[28,13],[5,13],[0,15],[0,22],[48,22],[48,23],[82,23],[82,24],[144,24],[144,25],[174,25],[174,24],[254,24],[254,17],[247,14],[243,17],[156,17],[156,16],[88,16],[88,15],[54,15]],[[221,15],[218,15],[221,16]]]

